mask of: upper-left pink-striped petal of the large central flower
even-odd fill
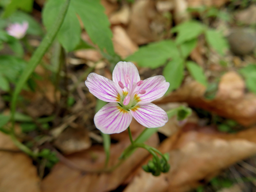
[[[90,93],[92,93],[98,99],[106,102],[119,102],[122,90],[112,80],[96,73],[90,73],[85,81],[85,84]]]

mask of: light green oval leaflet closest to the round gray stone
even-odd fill
[[[207,43],[223,56],[225,50],[228,49],[226,38],[224,38],[224,36],[219,31],[213,29],[206,30],[205,35]]]

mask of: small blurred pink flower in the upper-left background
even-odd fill
[[[7,33],[10,36],[13,36],[17,39],[23,38],[27,30],[28,30],[28,22],[26,21],[24,21],[22,24],[19,24],[19,23],[10,24],[6,29]]]

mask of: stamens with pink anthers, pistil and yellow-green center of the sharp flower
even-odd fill
[[[121,89],[126,88],[127,92],[123,92],[123,97],[122,97],[122,101],[123,101],[123,107],[125,109],[130,109],[133,106],[135,106],[135,104],[138,103],[138,101],[140,100],[140,97],[138,96],[138,94],[145,94],[146,90],[139,90],[139,91],[135,91],[136,87],[141,86],[144,82],[138,81],[137,83],[135,82],[131,82],[131,78],[129,76],[129,74],[125,74],[124,75],[124,81],[125,84],[127,84],[127,86],[125,86],[121,81],[118,81],[118,85],[120,86]]]

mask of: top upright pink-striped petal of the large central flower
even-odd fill
[[[132,62],[118,62],[113,71],[113,81],[116,84],[118,84],[118,82],[120,81],[122,82],[122,84],[128,87],[128,84],[125,81],[126,75],[130,76],[132,84],[140,81],[138,69]],[[124,91],[127,91],[126,88],[124,88]]]

